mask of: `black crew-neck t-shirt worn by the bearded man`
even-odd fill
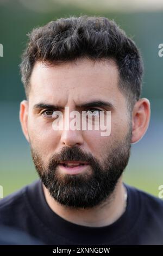
[[[46,245],[163,245],[163,201],[126,185],[126,212],[105,227],[73,224],[53,212],[40,180],[0,201],[0,224]]]

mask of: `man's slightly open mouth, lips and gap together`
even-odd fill
[[[89,166],[89,163],[82,161],[65,161],[59,163],[61,172],[66,174],[82,173],[87,166]]]

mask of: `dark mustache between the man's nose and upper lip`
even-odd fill
[[[59,153],[54,154],[49,160],[49,165],[54,166],[60,162],[66,161],[83,161],[88,162],[89,164],[95,164],[96,159],[92,156],[91,153],[86,153],[78,146],[73,147],[64,147]]]

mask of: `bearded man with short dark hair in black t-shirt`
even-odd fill
[[[122,182],[131,143],[149,124],[142,73],[134,42],[106,18],[59,19],[30,33],[20,121],[40,180],[1,201],[2,224],[47,245],[163,243],[162,201]],[[111,132],[67,129],[73,111],[93,116],[94,128],[111,112]]]

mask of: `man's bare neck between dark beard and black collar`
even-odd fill
[[[91,209],[72,209],[59,204],[49,194],[43,185],[43,192],[49,207],[66,221],[87,227],[104,227],[114,223],[121,217],[126,209],[126,188],[122,183],[122,178],[118,180],[114,192],[103,204],[99,204]]]

